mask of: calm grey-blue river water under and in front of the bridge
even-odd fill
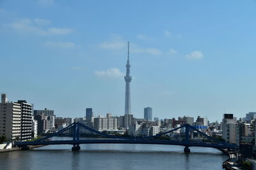
[[[0,169],[222,169],[227,155],[214,148],[139,144],[49,145],[0,153]]]

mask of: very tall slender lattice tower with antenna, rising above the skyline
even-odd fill
[[[128,42],[128,59],[126,64],[126,76],[125,80],[125,115],[131,115],[131,89],[130,83],[132,81],[132,77],[130,76],[130,60],[129,60],[129,42]]]

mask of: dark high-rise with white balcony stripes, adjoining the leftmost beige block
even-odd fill
[[[21,107],[21,131],[20,139],[22,141],[32,139],[32,104],[27,101],[17,101]]]

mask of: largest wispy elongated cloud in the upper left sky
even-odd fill
[[[33,33],[39,35],[65,35],[72,32],[72,29],[50,27],[44,29],[42,25],[50,24],[50,20],[38,19],[31,20],[29,18],[23,18],[17,22],[9,24],[12,29],[19,32]]]

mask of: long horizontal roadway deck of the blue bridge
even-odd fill
[[[80,145],[80,144],[99,144],[99,143],[122,143],[122,144],[150,144],[150,145],[180,145],[180,146],[199,146],[217,149],[234,149],[236,145],[223,145],[222,143],[200,143],[186,141],[166,141],[166,140],[141,140],[141,139],[86,139],[86,140],[61,140],[61,141],[23,141],[15,142],[18,147],[36,145]]]

